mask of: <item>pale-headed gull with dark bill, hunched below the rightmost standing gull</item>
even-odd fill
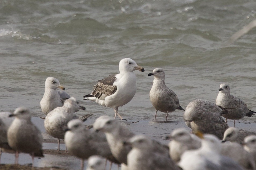
[[[222,142],[230,141],[230,142],[237,142],[239,144],[243,144],[244,138],[246,136],[256,134],[255,132],[250,132],[246,130],[238,130],[235,127],[229,127],[223,136]]]

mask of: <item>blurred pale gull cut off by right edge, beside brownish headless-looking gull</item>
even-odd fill
[[[253,155],[256,162],[256,135],[250,135],[244,138],[244,150]]]

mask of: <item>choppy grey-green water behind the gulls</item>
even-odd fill
[[[256,110],[256,29],[223,45],[255,20],[255,9],[254,0],[0,1],[0,111],[27,106],[42,116],[39,102],[51,76],[95,117],[114,115],[82,98],[98,79],[117,73],[124,57],[145,68],[136,71],[133,100],[119,108],[127,119],[153,119],[147,74],[156,67],[166,71],[184,109],[193,99],[215,101],[225,82]],[[169,119],[182,121],[182,114]]]

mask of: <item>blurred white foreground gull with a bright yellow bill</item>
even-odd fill
[[[243,168],[226,156],[221,156],[221,142],[212,134],[205,134],[202,146],[185,151],[179,162],[183,170],[242,170]]]

